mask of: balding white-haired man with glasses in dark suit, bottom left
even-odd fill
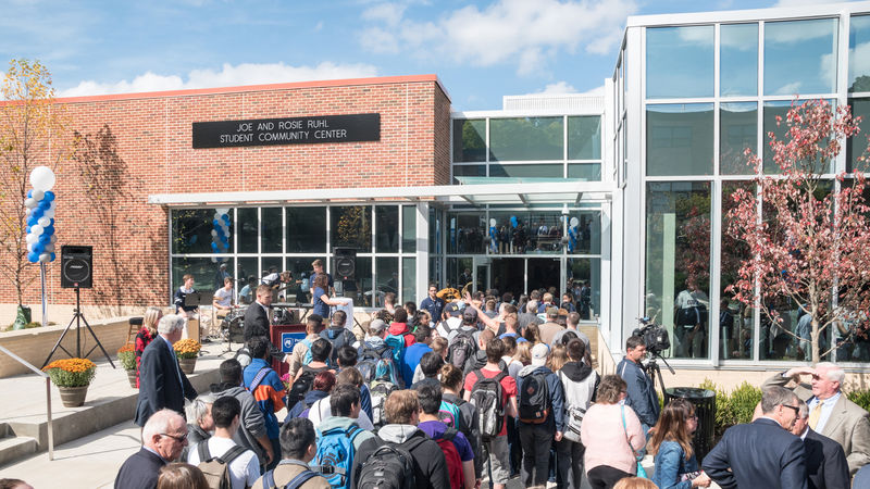
[[[178,459],[187,444],[187,424],[172,410],[156,412],[142,428],[142,448],[115,477],[115,489],[154,489],[163,465]]]

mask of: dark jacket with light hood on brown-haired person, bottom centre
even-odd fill
[[[386,441],[402,444],[412,438],[422,438],[422,443],[411,450],[414,460],[415,489],[449,489],[450,476],[447,472],[447,462],[438,443],[432,441],[417,426],[386,425],[377,431],[377,436],[365,440],[360,446],[353,457],[353,472],[350,487],[357,487],[362,465]]]

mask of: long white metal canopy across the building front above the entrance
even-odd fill
[[[330,188],[202,193],[158,193],[148,197],[157,205],[221,205],[302,202],[417,202],[447,204],[538,204],[580,203],[609,200],[616,186],[606,181],[547,181],[540,184],[436,185],[423,187]]]

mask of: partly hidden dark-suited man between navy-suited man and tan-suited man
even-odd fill
[[[843,447],[809,427],[809,409],[804,401],[798,401],[798,408],[800,411],[792,428],[792,435],[804,440],[809,478],[807,487],[809,489],[849,487],[849,466]]]

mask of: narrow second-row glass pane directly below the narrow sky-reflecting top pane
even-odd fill
[[[749,148],[755,154],[758,141],[758,104],[755,102],[721,103],[719,112],[719,173],[747,175],[755,170],[744,154]]]

